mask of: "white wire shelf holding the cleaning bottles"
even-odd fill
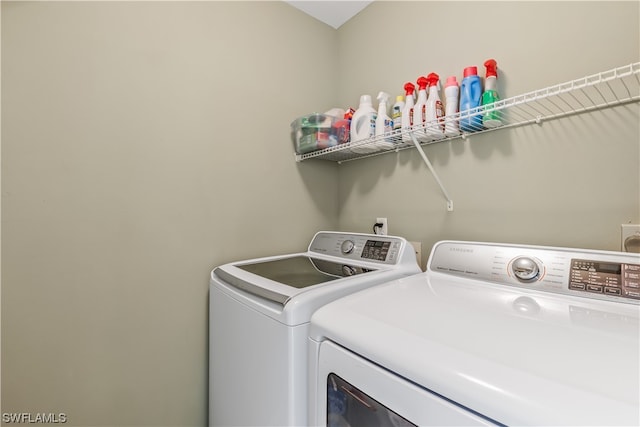
[[[462,111],[412,129],[398,129],[384,136],[296,154],[296,161],[318,158],[342,163],[416,148],[413,137],[420,145],[427,145],[638,101],[640,62]],[[493,120],[485,124],[492,127],[483,125],[485,114],[491,115]],[[465,131],[442,134],[442,128]],[[437,135],[438,139],[430,135]]]

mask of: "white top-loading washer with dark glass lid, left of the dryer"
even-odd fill
[[[420,273],[400,237],[319,232],[306,252],[234,262],[210,281],[209,424],[307,422],[313,312],[345,295]]]

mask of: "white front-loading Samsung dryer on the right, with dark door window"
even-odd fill
[[[640,255],[445,241],[320,308],[309,425],[640,425]]]

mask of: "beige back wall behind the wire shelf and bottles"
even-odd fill
[[[498,61],[510,97],[640,60],[638,2],[375,2],[339,33],[340,102],[437,72]],[[393,37],[392,37],[393,36]],[[407,43],[406,40],[410,40]],[[393,56],[390,55],[393,53]],[[425,148],[454,201],[416,150],[339,167],[340,227],[392,234],[429,248],[441,239],[619,250],[620,225],[640,222],[640,107]]]

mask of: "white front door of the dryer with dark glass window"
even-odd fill
[[[331,341],[320,345],[315,425],[495,425]]]

